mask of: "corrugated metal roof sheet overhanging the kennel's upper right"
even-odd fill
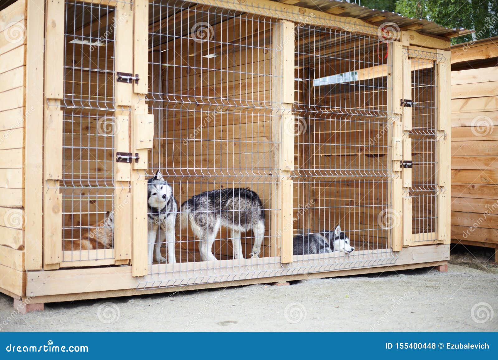
[[[397,12],[385,10],[375,10],[365,6],[360,6],[356,3],[338,0],[278,0],[277,2],[287,3],[294,6],[301,6],[333,13],[339,16],[356,17],[362,20],[370,21],[374,24],[382,24],[384,22],[393,22],[401,29],[416,30],[422,34],[437,35],[445,38],[452,38],[461,35],[467,35],[475,32],[475,30],[467,30],[464,28],[450,29],[436,24],[427,19],[417,19],[414,17],[406,17]]]

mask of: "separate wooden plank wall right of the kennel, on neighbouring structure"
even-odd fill
[[[453,71],[451,83],[452,242],[498,249],[498,67]]]

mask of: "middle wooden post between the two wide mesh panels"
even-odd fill
[[[277,20],[272,27],[272,142],[273,164],[278,180],[271,191],[271,256],[292,262],[294,170],[294,23]],[[280,209],[280,211],[278,211]],[[278,236],[278,234],[280,236]]]

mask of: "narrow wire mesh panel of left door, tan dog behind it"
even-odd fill
[[[65,4],[60,192],[68,266],[114,257],[115,7],[106,3]]]

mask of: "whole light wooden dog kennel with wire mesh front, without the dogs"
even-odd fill
[[[2,9],[8,21],[1,22],[0,31],[6,30],[6,24],[20,22],[25,24],[26,37],[20,42],[0,45],[0,56],[9,59],[0,62],[3,66],[0,76],[14,79],[2,82],[12,89],[5,88],[0,93],[5,99],[1,102],[4,107],[0,112],[1,130],[10,131],[11,135],[0,145],[4,155],[0,166],[1,191],[5,194],[1,197],[0,209],[3,215],[10,212],[24,219],[21,225],[12,226],[11,220],[6,223],[8,217],[2,216],[1,291],[21,297],[27,304],[176,291],[178,286],[186,286],[185,289],[227,286],[227,281],[237,285],[445,265],[449,256],[447,167],[450,163],[450,134],[446,131],[449,121],[447,49],[448,38],[465,31],[429,23],[423,34],[412,30],[413,24],[405,24],[406,27],[400,24],[400,36],[389,44],[384,61],[378,48],[385,50],[386,47],[377,33],[379,23],[386,18],[369,22],[374,21],[375,11],[370,14],[372,19],[364,17],[367,21],[348,17],[358,10],[354,4],[330,2],[323,7],[325,12],[321,12],[301,2],[296,6],[272,1],[177,1],[175,5],[174,2],[138,0],[133,4],[104,0],[60,0],[45,4],[44,1],[18,0]],[[154,4],[170,4],[170,8],[176,10],[168,16],[154,18],[150,10]],[[178,7],[179,4],[183,7]],[[92,16],[87,15],[83,21],[74,16],[79,11],[76,8],[83,8],[81,11]],[[262,60],[251,61],[251,71],[247,71],[249,74],[245,77],[239,74],[239,78],[224,80],[220,76],[222,71],[217,73],[216,68],[210,68],[209,61],[205,58],[199,61],[207,63],[204,69],[213,75],[201,76],[207,87],[213,83],[216,86],[217,81],[221,84],[231,80],[249,82],[254,80],[249,79],[251,75],[258,74],[262,79],[250,84],[260,91],[233,92],[237,88],[229,87],[227,94],[232,101],[229,96],[216,100],[209,92],[207,97],[198,97],[195,91],[189,93],[196,82],[185,76],[178,78],[184,68],[162,66],[169,60],[166,55],[158,54],[161,52],[158,49],[172,44],[163,40],[166,36],[176,36],[177,41],[184,41],[187,49],[191,46],[188,33],[174,32],[175,26],[191,24],[189,13],[197,13],[201,18],[207,13],[215,18],[223,17],[224,21],[210,24],[215,33],[216,29],[230,28],[230,24],[238,21],[246,21],[242,29],[257,29],[256,40],[260,43],[250,46],[246,43],[246,51],[250,49],[251,56],[242,59],[253,59],[253,54],[260,54]],[[206,19],[209,21],[209,16]],[[168,21],[176,25],[164,27]],[[299,27],[303,31],[296,31]],[[433,28],[432,33],[429,28]],[[311,34],[311,38],[302,37],[306,36],[303,33]],[[435,36],[436,33],[446,38]],[[105,46],[82,41],[87,38],[96,42],[103,34],[106,34]],[[130,34],[133,34],[132,45]],[[329,42],[321,42],[321,36],[328,37]],[[154,38],[159,41],[151,43]],[[238,41],[248,38],[249,33],[242,34]],[[289,38],[292,40],[287,41]],[[81,41],[70,42],[70,39]],[[312,51],[312,47],[306,45],[310,39],[316,42],[318,50]],[[44,40],[47,45],[44,56],[40,57]],[[341,48],[333,48],[332,44],[337,42]],[[212,43],[214,47],[220,45],[242,46],[235,41],[231,43],[230,37],[218,44]],[[301,50],[300,45],[304,46]],[[90,51],[89,46],[94,49]],[[362,46],[367,51],[360,58],[357,50]],[[154,60],[154,55],[159,58]],[[204,56],[197,54],[197,58],[199,55]],[[194,61],[196,54],[191,59],[186,57]],[[335,63],[334,57],[339,59]],[[181,59],[182,56],[177,58]],[[161,65],[159,70],[154,64]],[[218,70],[228,76],[236,73],[231,72],[230,66]],[[327,80],[351,71],[357,73],[357,78],[345,82]],[[137,74],[139,80],[118,81],[117,72]],[[412,81],[415,75],[425,79],[417,83],[418,87],[424,84],[433,89],[423,93],[423,99],[415,90],[417,85]],[[183,80],[175,83],[171,78]],[[334,89],[334,96],[327,96],[329,90],[320,95],[320,91],[314,89],[320,85],[313,84],[317,79],[325,81],[323,89]],[[362,88],[370,91],[361,91]],[[185,91],[196,99],[182,108],[179,103],[185,99]],[[401,106],[402,99],[432,102],[427,109],[433,112],[416,114],[416,109]],[[195,110],[199,103],[201,111],[221,107],[219,112],[225,120],[232,121],[231,129],[223,129],[233,133],[232,145],[228,145],[228,141],[225,147],[219,148],[207,144],[206,140],[216,135],[218,124],[204,129],[207,137],[199,138],[200,147],[192,149],[188,141],[187,145],[175,144],[175,140],[188,140],[189,130],[196,126],[181,127],[182,117],[177,116],[177,120],[175,116],[170,117],[168,108],[185,114]],[[12,127],[14,114],[20,114],[17,117],[20,121]],[[257,123],[261,122],[255,134],[263,138],[262,141],[252,137],[255,117]],[[296,117],[311,120],[311,129],[297,136],[285,131],[293,129]],[[418,119],[430,124],[421,125]],[[104,133],[104,137],[96,132],[99,121],[111,124],[111,132]],[[250,141],[241,140],[242,126],[236,129],[237,121],[248,126]],[[80,131],[78,136],[65,127],[68,124],[71,129]],[[194,125],[195,121],[189,124]],[[229,126],[228,122],[225,126]],[[362,126],[367,126],[368,131]],[[433,136],[435,154],[432,153],[432,158],[424,155],[429,152],[426,148],[412,150],[410,144],[410,139],[417,140],[417,136],[422,136],[420,132],[426,131],[417,132],[416,128],[427,126],[431,127],[428,133]],[[386,127],[384,132],[383,127]],[[356,137],[341,137],[345,131]],[[370,146],[368,140],[378,134],[378,144]],[[244,150],[249,142],[257,142],[257,152],[264,155],[244,156],[242,166],[233,156],[229,156],[227,162],[210,162],[201,156],[232,154],[235,149],[230,146]],[[184,152],[181,146],[186,147],[193,159],[174,158]],[[238,153],[242,150],[237,149]],[[132,163],[116,162],[117,152],[129,153],[138,159]],[[422,165],[432,162],[437,166],[433,169],[422,166],[413,177],[412,169],[401,168],[401,163],[410,158],[415,166],[417,162]],[[72,165],[64,159],[70,159]],[[68,172],[68,166],[72,172]],[[177,264],[180,267],[174,264],[148,266],[146,179],[157,168],[166,170],[166,178],[173,185],[175,182],[183,185],[174,187],[180,203],[206,189],[206,184],[224,181],[227,187],[252,184],[268,209],[264,256],[230,259],[231,248],[226,241],[221,241],[215,253],[226,256],[227,260],[216,264],[207,266],[193,261]],[[192,173],[192,168],[204,173]],[[197,183],[189,185],[189,179]],[[422,189],[423,186],[426,188]],[[437,221],[430,227],[422,224],[422,228],[417,229],[417,225],[412,224],[412,218],[429,217],[424,215],[428,206],[418,206],[422,200],[413,197],[410,189],[431,192],[430,217]],[[91,193],[95,195],[89,195]],[[367,198],[360,198],[360,194],[366,194]],[[359,205],[360,200],[364,203]],[[331,212],[339,201],[349,204],[353,211],[343,207]],[[379,229],[378,212],[372,210],[373,204],[380,204],[379,210],[395,211],[400,215],[399,221],[391,229]],[[119,209],[115,214],[112,248],[63,251],[64,241],[77,239],[82,230],[102,220],[110,207]],[[328,213],[326,218],[330,219],[328,224],[323,222],[324,209]],[[350,258],[339,254],[292,256],[292,236],[300,229],[318,231],[319,225],[330,226],[341,221],[347,223],[349,228],[344,230],[355,234],[352,240],[358,243],[358,250]],[[64,229],[71,230],[71,234]],[[226,238],[226,234],[220,237]],[[188,240],[188,234],[186,238]],[[193,248],[192,239],[186,243],[179,238],[177,241],[180,242],[177,251]],[[246,241],[251,241],[250,235]],[[185,276],[188,272],[196,275]]]

